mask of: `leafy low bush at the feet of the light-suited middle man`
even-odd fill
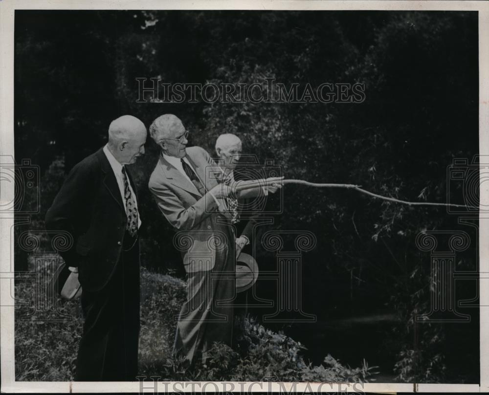
[[[205,364],[172,361],[164,370],[167,380],[192,381],[285,381],[285,382],[368,382],[377,374],[365,360],[360,368],[350,368],[328,354],[319,366],[307,364],[300,352],[306,348],[285,334],[273,332],[255,320],[236,321],[238,350],[214,343]]]

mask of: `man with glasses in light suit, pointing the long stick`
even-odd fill
[[[186,147],[188,133],[172,114],[150,126],[161,155],[149,188],[163,216],[179,231],[174,240],[188,276],[174,353],[190,361],[199,355],[205,361],[214,342],[231,345],[232,340],[235,236],[226,204],[232,188],[219,182],[221,169],[205,150]],[[238,197],[260,191],[253,188]]]

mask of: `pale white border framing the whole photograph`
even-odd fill
[[[0,157],[14,157],[14,13],[21,9],[45,10],[417,10],[478,11],[479,19],[479,153],[489,154],[489,1],[326,1],[326,0],[0,0]],[[487,185],[487,183],[486,183]],[[480,189],[480,204],[489,205],[489,188]],[[3,185],[1,202],[12,201],[14,185]],[[148,381],[141,389],[139,382],[20,382],[15,380],[14,365],[14,241],[10,233],[13,215],[0,213],[0,359],[1,392],[6,393],[113,393],[155,392]],[[480,281],[489,280],[489,226],[480,216],[479,253]],[[480,385],[478,384],[382,384],[364,383],[363,392],[489,392],[489,286],[480,287]],[[160,382],[156,390],[169,392],[229,391],[229,385],[216,382],[185,386],[182,382]],[[290,391],[291,383],[242,383],[236,391]],[[357,392],[356,383],[300,383],[297,392],[312,390]]]

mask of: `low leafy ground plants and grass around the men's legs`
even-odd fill
[[[35,311],[32,282],[18,279],[16,297],[26,307],[15,315],[15,361],[18,381],[68,381],[81,337],[79,302],[57,299],[57,311]],[[304,361],[305,347],[282,332],[264,328],[253,319],[236,319],[236,350],[215,343],[205,364],[173,359],[176,316],[185,300],[185,283],[168,275],[141,272],[141,332],[139,374],[163,380],[194,381],[342,381],[366,382],[375,374],[363,363],[343,366],[331,355],[322,365]],[[69,318],[60,320],[60,314]],[[43,321],[37,321],[43,319]],[[58,322],[56,321],[58,320]]]

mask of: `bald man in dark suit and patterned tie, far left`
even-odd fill
[[[131,115],[112,121],[107,145],[73,167],[46,214],[48,230],[73,237],[60,254],[82,286],[77,381],[136,380],[141,219],[127,165],[144,154],[146,136]]]

